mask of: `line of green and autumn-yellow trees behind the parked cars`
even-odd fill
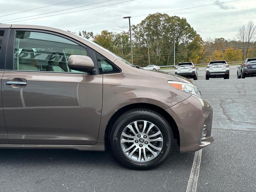
[[[256,57],[256,26],[253,21],[239,27],[231,39],[202,39],[186,18],[155,13],[137,25],[131,26],[133,63],[173,65],[193,61],[208,63],[211,60],[242,61]],[[103,30],[100,34],[83,30],[79,35],[131,61],[129,31],[120,33]]]

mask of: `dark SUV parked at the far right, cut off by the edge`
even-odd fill
[[[237,67],[237,79],[256,76],[256,58],[245,59],[241,66]]]

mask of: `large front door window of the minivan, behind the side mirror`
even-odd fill
[[[71,55],[87,55],[86,48],[56,35],[41,32],[16,33],[14,70],[78,72],[69,69]]]

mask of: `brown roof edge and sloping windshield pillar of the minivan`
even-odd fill
[[[114,62],[118,57],[114,55],[114,53],[111,53],[110,51],[100,47],[96,43],[83,38],[79,35],[76,35],[74,33],[70,33],[61,29],[53,28],[53,27],[45,27],[45,26],[40,26],[40,25],[11,25],[11,24],[1,24],[0,28],[15,28],[15,29],[35,29],[35,30],[45,30],[49,32],[55,32],[55,33],[60,33],[62,35],[66,35],[70,38],[73,38],[76,41],[79,41],[85,45],[88,45],[90,48],[93,50],[99,52],[101,55],[107,57],[110,61]]]

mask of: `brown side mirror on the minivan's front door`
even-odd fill
[[[87,72],[94,69],[94,63],[88,56],[71,55],[68,58],[68,67],[76,71]]]

